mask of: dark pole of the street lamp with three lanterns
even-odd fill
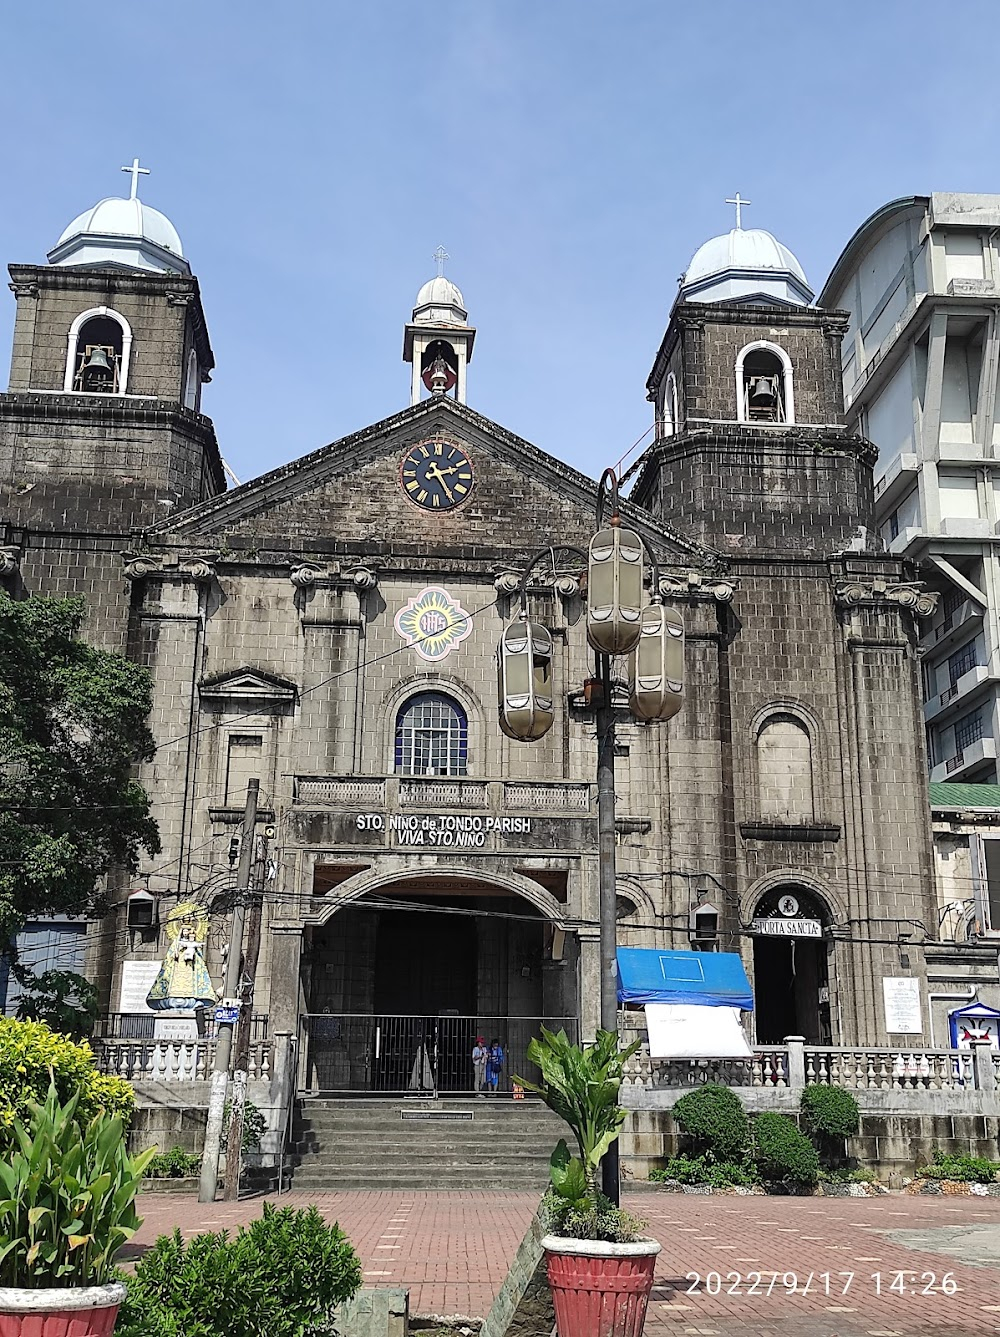
[[[618,896],[615,892],[615,713],[611,659],[598,655],[598,886],[600,890],[600,1029],[618,1035]],[[600,1162],[604,1197],[622,1201],[618,1139]]]

